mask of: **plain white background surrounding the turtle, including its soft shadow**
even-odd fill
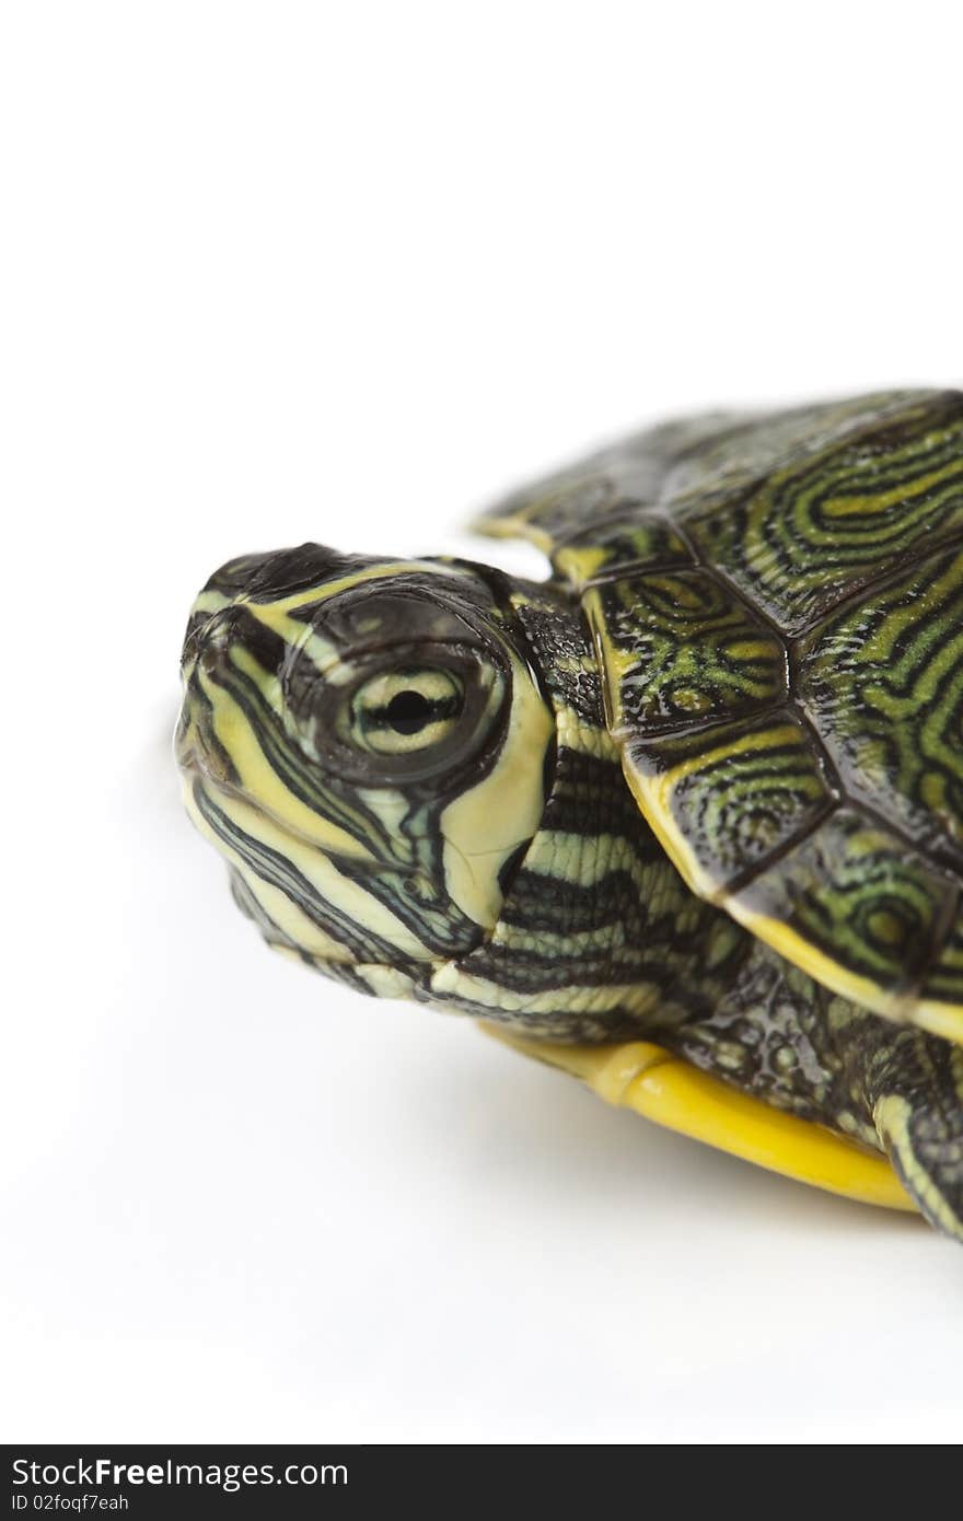
[[[8,1440],[958,1439],[958,1246],[271,957],[169,736],[230,555],[464,549],[645,418],[958,382],[961,43],[3,8]]]

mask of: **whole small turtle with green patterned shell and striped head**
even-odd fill
[[[963,1240],[963,392],[710,412],[207,581],[187,809],[265,940]]]

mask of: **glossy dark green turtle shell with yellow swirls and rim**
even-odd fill
[[[628,785],[691,890],[963,1040],[963,392],[656,427],[476,526],[583,598]]]

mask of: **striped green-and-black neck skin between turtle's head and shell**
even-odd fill
[[[555,719],[545,812],[491,934],[417,998],[546,1040],[672,1039],[735,986],[752,935],[695,897],[625,785],[577,604],[511,590]]]

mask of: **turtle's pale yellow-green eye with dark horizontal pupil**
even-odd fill
[[[348,741],[379,756],[408,756],[447,739],[464,710],[464,686],[453,671],[383,671],[356,687]]]

